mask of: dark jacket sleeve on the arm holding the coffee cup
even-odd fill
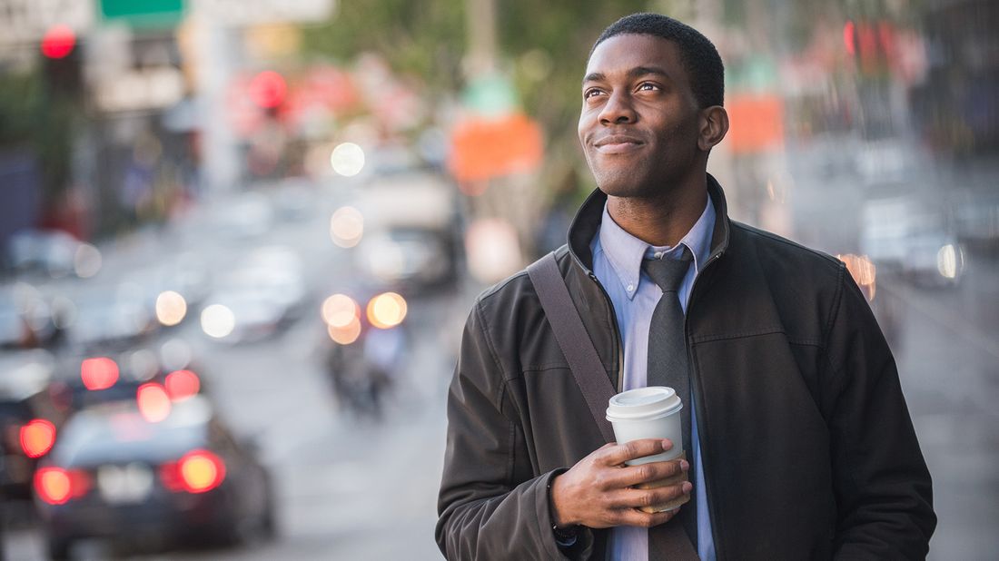
[[[585,555],[589,532],[567,552],[554,541],[548,485],[559,471],[515,480],[528,454],[516,414],[503,399],[505,377],[477,306],[466,324],[448,396],[438,545],[453,560]]]

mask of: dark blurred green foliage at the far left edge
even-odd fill
[[[66,190],[79,112],[72,98],[49,94],[38,67],[0,73],[0,150],[28,151],[35,156],[43,206]]]

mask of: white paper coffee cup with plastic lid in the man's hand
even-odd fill
[[[668,438],[673,447],[652,456],[629,460],[628,465],[676,459],[683,453],[680,410],[683,403],[671,387],[651,385],[622,391],[610,398],[607,420],[618,444],[640,438]]]

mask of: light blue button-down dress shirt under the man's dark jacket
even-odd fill
[[[708,198],[707,206],[700,218],[680,240],[693,254],[693,263],[686,277],[676,291],[686,313],[687,300],[693,281],[707,263],[711,252],[711,233],[714,228],[714,206]],[[680,244],[672,248],[655,248],[624,232],[603,208],[603,219],[599,233],[593,237],[590,249],[593,252],[593,273],[600,281],[617,316],[621,344],[624,351],[623,389],[644,387],[645,366],[648,359],[648,325],[652,311],[662,290],[641,271],[643,259],[663,257],[676,259],[681,250]],[[696,403],[690,393],[690,439],[693,445],[692,466],[698,482],[697,501],[697,554],[705,561],[714,561],[714,540],[711,534],[711,521],[707,512],[707,497],[703,492],[704,468],[700,459],[700,445],[697,440]],[[689,458],[688,458],[689,459]],[[610,531],[607,559],[611,561],[645,561],[648,558],[648,531],[637,526],[617,526]]]

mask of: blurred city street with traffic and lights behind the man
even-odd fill
[[[995,2],[0,0],[0,561],[440,559],[464,322],[564,243],[642,10],[724,61],[732,220],[870,302],[929,558],[995,559]]]

